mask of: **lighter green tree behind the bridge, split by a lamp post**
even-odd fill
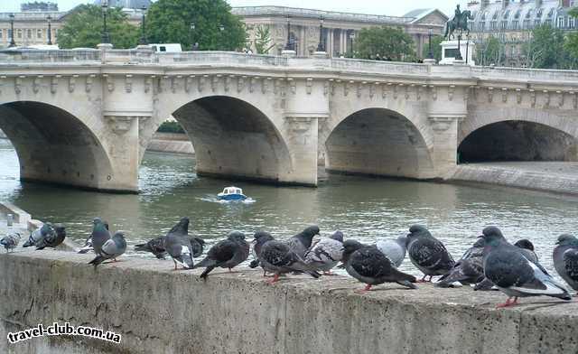
[[[95,48],[102,42],[102,9],[98,5],[79,5],[58,32],[61,48]],[[138,44],[139,29],[128,23],[119,8],[107,11],[107,32],[115,48],[134,48]]]

